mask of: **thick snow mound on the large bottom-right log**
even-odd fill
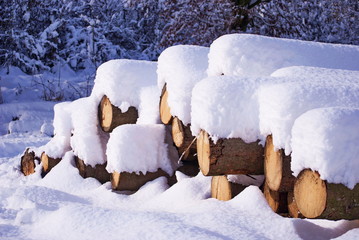
[[[359,182],[359,108],[318,108],[292,129],[292,171],[310,168],[320,178],[354,188]]]

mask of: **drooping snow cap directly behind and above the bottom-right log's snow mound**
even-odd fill
[[[283,148],[286,155],[291,152],[294,121],[301,114],[321,107],[359,107],[359,71],[314,71],[315,78],[288,74],[281,77],[285,81],[263,84],[258,89],[260,132],[272,134],[274,147]]]

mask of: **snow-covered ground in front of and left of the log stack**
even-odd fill
[[[114,192],[109,182],[83,179],[67,152],[44,178],[40,165],[25,177],[21,155],[50,141],[54,102],[16,69],[0,76],[0,239],[359,239],[359,220],[282,217],[256,186],[227,202],[212,199],[211,178],[201,173],[177,172],[171,187],[161,177],[133,194]],[[67,99],[88,86],[86,74],[61,79],[73,86]]]

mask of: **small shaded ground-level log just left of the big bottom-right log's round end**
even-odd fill
[[[264,183],[263,195],[273,212],[279,214],[288,213],[288,194],[286,192],[272,191],[268,184]]]

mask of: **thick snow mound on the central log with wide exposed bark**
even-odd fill
[[[250,143],[260,139],[256,90],[260,84],[271,80],[218,76],[200,81],[192,92],[193,135],[203,129],[214,141],[239,137]]]

